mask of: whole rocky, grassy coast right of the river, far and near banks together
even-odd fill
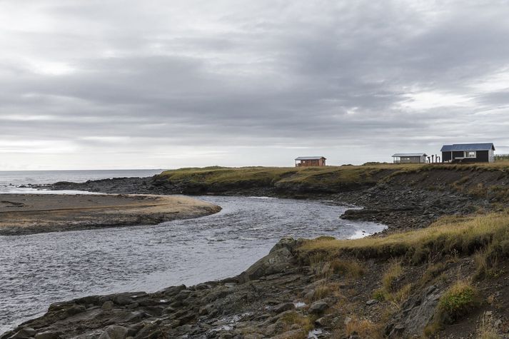
[[[221,180],[233,183],[220,189]],[[189,193],[198,185],[200,194],[326,197],[365,206],[345,218],[389,228],[351,241],[283,239],[226,280],[54,304],[0,339],[509,338],[508,182],[508,164],[495,163],[205,168],[59,183],[54,188]]]

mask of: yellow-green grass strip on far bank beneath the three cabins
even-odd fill
[[[509,175],[509,161],[472,164],[392,164],[373,163],[363,166],[325,166],[325,167],[240,167],[229,168],[211,166],[204,168],[180,168],[164,171],[157,176],[162,181],[183,183],[187,186],[203,188],[203,191],[221,191],[234,188],[288,188],[303,187],[310,191],[338,191],[341,188],[373,185],[387,182],[405,174],[428,172],[464,171],[464,178],[450,183],[455,188],[463,188],[469,183],[475,171],[498,171],[500,177]],[[505,188],[485,186],[473,189],[473,194],[484,195],[493,191],[498,196],[509,198]]]

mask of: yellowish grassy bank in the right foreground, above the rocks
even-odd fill
[[[496,334],[501,329],[493,323],[488,329],[485,324],[500,316],[496,310],[509,303],[503,283],[509,278],[509,210],[445,217],[428,228],[384,237],[322,237],[303,241],[296,251],[301,265],[322,272],[330,282],[323,283],[324,288],[337,284],[338,278],[331,277],[338,275],[355,286],[351,295],[357,299],[378,301],[380,313],[348,296],[337,306],[345,318],[369,325],[362,326],[370,328],[366,338],[386,338],[390,323],[415,321],[405,318],[415,305],[430,308],[428,318],[420,315],[418,321],[421,338],[452,338],[458,324],[463,334],[477,333],[475,338],[485,338],[485,333],[493,335],[489,338],[505,338]],[[415,301],[431,287],[437,295],[435,304]],[[346,332],[354,334],[348,328]]]

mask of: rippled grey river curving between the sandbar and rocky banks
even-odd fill
[[[193,285],[241,273],[281,238],[358,238],[378,223],[344,221],[327,201],[197,197],[223,210],[156,226],[0,236],[0,333],[85,295]]]

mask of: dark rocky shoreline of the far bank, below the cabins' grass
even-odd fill
[[[455,178],[451,179],[453,182]],[[149,178],[113,178],[85,183],[59,182],[53,185],[30,186],[50,190],[81,190],[101,193],[148,193],[223,196],[273,196],[277,198],[321,199],[340,206],[362,206],[346,211],[342,218],[356,221],[374,221],[388,226],[385,233],[421,228],[440,216],[467,215],[478,210],[490,211],[488,199],[466,195],[448,187],[430,190],[428,186],[413,183],[381,182],[373,185],[350,186],[344,191],[329,191],[319,186],[301,188],[285,186],[238,186],[206,191],[194,184],[169,183],[159,176]],[[213,186],[214,187],[214,186]]]

